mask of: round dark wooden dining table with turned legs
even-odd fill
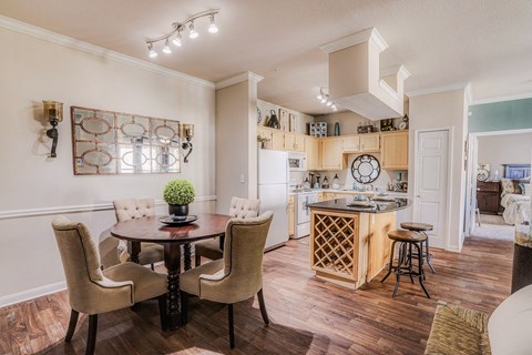
[[[224,214],[201,213],[197,220],[185,225],[167,225],[161,217],[143,217],[119,222],[111,227],[111,235],[127,241],[131,261],[139,263],[141,242],[164,245],[164,266],[168,272],[168,327],[176,329],[180,323],[181,245],[184,268],[192,267],[191,243],[216,236],[225,236],[225,226],[231,219]]]

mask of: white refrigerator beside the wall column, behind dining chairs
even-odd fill
[[[258,199],[260,213],[274,212],[266,250],[288,241],[288,155],[286,152],[258,150]]]

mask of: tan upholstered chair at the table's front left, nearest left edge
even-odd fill
[[[89,336],[85,354],[93,354],[100,313],[126,308],[155,297],[158,297],[161,326],[167,328],[165,275],[134,263],[123,263],[102,272],[95,243],[82,223],[57,217],[52,226],[72,308],[64,338],[66,343],[72,339],[79,313],[86,313]]]

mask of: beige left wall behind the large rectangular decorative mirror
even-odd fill
[[[62,282],[50,222],[54,212],[109,204],[113,199],[162,199],[170,179],[188,179],[198,200],[215,195],[214,85],[141,69],[45,40],[0,29],[0,303],[6,296]],[[64,102],[58,158],[41,141],[41,101]],[[181,120],[195,124],[194,151],[180,174],[74,176],[70,106],[80,105]],[[209,197],[212,196],[212,197]],[[35,211],[37,209],[37,211]],[[196,203],[192,212],[213,209]],[[164,207],[160,211],[164,213]],[[18,213],[20,217],[9,217]],[[71,213],[98,234],[114,222],[113,212]]]

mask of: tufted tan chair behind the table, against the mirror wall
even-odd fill
[[[116,221],[123,222],[132,219],[142,219],[155,214],[155,201],[153,199],[115,200],[113,201]],[[103,268],[130,261],[127,243],[112,236],[109,231],[100,235],[100,255]],[[152,265],[164,260],[164,247],[155,243],[141,243],[139,254],[141,265]]]

